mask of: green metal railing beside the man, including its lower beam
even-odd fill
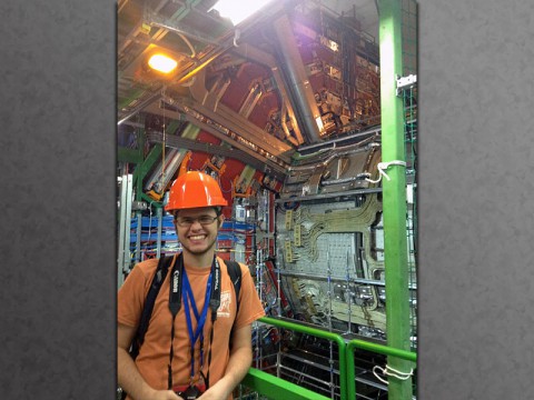
[[[353,339],[348,343],[337,333],[327,332],[320,329],[303,326],[299,323],[279,320],[270,317],[264,317],[259,322],[275,326],[278,328],[288,329],[295,332],[310,334],[317,338],[335,341],[339,350],[339,390],[342,400],[356,399],[356,377],[354,350],[356,348],[372,351],[375,353],[397,357],[403,360],[417,362],[417,354],[415,352],[405,351],[388,346],[372,343],[365,340]],[[328,400],[329,398],[316,393],[309,389],[305,389],[298,384],[286,381],[281,378],[275,377],[270,373],[260,371],[256,368],[250,368],[247,376],[241,381],[246,386],[259,394],[266,396],[269,399],[276,400]],[[395,400],[395,399],[392,399]]]

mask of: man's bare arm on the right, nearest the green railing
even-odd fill
[[[253,328],[247,324],[235,330],[231,337],[233,347],[225,376],[210,387],[199,399],[226,400],[235,387],[245,378],[253,363]]]

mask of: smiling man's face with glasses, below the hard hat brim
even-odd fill
[[[222,218],[217,217],[212,207],[179,210],[175,217],[175,224],[184,251],[202,256],[215,249]]]

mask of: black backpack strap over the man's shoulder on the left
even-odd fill
[[[130,356],[134,360],[139,354],[139,349],[141,348],[141,344],[145,341],[145,334],[147,333],[148,324],[150,322],[150,317],[152,316],[156,298],[158,297],[159,289],[161,288],[161,283],[164,282],[165,277],[167,277],[167,272],[175,257],[164,256],[159,258],[158,268],[156,269],[156,273],[154,274],[154,278],[152,278],[152,283],[150,284],[147,299],[145,300],[145,306],[142,308],[139,326],[137,327],[136,336],[134,337],[134,340],[131,342]]]

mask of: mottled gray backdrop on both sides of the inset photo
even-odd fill
[[[112,399],[115,2],[0,2],[0,398]],[[534,4],[419,1],[419,392],[531,398]]]

